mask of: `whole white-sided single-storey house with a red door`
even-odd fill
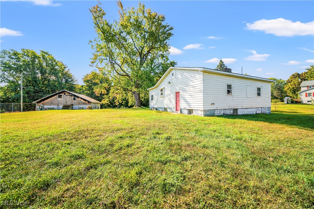
[[[267,78],[204,67],[170,67],[149,88],[150,110],[183,114],[270,114],[270,83]]]

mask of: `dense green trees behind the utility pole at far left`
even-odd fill
[[[23,73],[23,101],[33,102],[56,91],[74,90],[76,79],[68,67],[47,51],[2,50],[0,53],[1,102],[20,102]]]

